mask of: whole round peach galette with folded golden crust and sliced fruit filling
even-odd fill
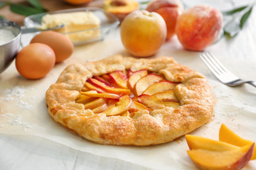
[[[70,64],[46,91],[54,120],[106,145],[156,145],[208,123],[213,97],[202,74],[171,57],[114,55]]]

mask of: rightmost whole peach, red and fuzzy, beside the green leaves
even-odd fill
[[[202,51],[218,39],[222,24],[223,16],[218,9],[193,6],[178,17],[176,35],[185,49]]]

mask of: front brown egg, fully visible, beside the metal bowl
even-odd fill
[[[16,69],[27,79],[45,77],[55,65],[53,49],[42,43],[23,47],[16,56]]]

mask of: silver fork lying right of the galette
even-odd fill
[[[228,86],[239,86],[246,83],[256,87],[256,81],[245,81],[235,76],[235,74],[226,69],[212,53],[203,53],[200,55],[200,58],[210,71],[213,72],[215,77],[217,77],[223,84]]]

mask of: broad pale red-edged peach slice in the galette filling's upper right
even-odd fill
[[[162,79],[164,79],[164,77],[161,77],[158,74],[147,74],[146,76],[142,77],[142,79],[139,79],[139,81],[137,81],[137,83],[135,84],[134,94],[136,96],[141,95],[142,92],[145,91],[149,86],[155,84],[156,82],[159,82]]]

